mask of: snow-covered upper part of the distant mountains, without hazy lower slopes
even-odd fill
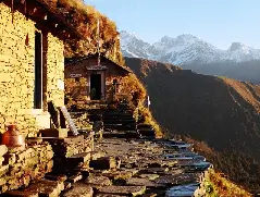
[[[245,62],[260,60],[260,50],[234,42],[227,50],[220,50],[202,39],[184,34],[172,38],[162,37],[158,42],[148,44],[125,30],[121,32],[123,54],[129,58],[145,58],[175,65],[200,62],[201,64],[224,61]]]

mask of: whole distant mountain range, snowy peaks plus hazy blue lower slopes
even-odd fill
[[[240,42],[233,42],[227,50],[221,50],[196,36],[183,34],[176,38],[164,36],[149,44],[122,30],[121,49],[124,57],[172,63],[202,74],[260,84],[260,49]]]

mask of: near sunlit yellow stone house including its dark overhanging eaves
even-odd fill
[[[0,123],[25,136],[50,127],[48,102],[64,104],[64,39],[78,38],[41,0],[0,1]]]

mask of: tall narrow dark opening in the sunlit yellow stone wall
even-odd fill
[[[42,36],[35,33],[35,91],[34,108],[42,108]]]

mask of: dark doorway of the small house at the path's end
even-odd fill
[[[90,99],[100,100],[101,99],[101,74],[90,75]]]

